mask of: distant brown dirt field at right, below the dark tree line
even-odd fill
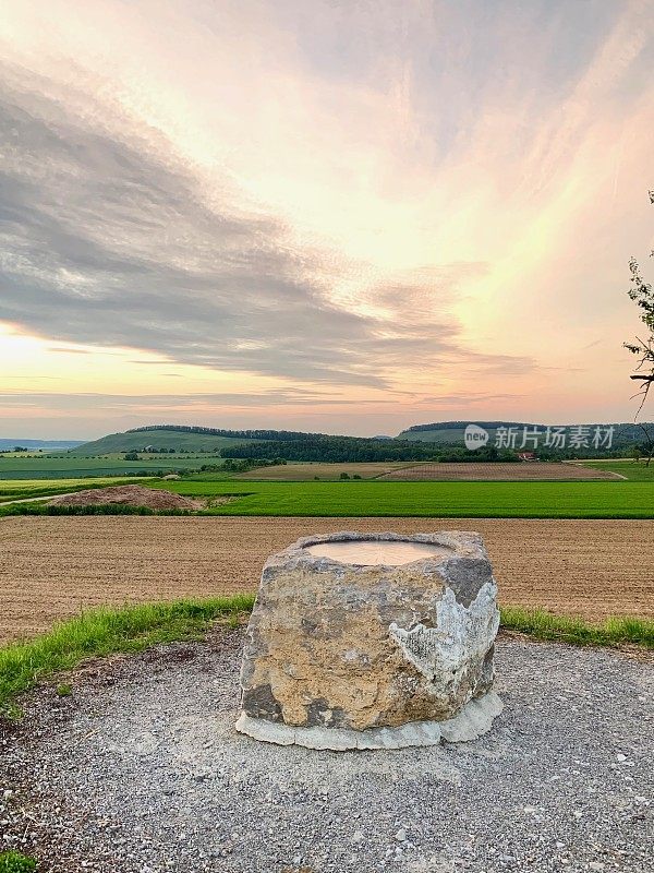
[[[543,479],[622,479],[615,473],[578,467],[572,464],[528,462],[516,464],[414,464],[405,469],[392,470],[380,479],[411,482],[417,479],[443,481],[530,481]]]

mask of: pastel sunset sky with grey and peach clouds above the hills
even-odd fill
[[[654,0],[3,0],[0,435],[631,420],[653,69]]]

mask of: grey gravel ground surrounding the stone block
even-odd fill
[[[654,670],[501,641],[473,743],[313,752],[235,734],[242,633],[40,689],[4,729],[0,827],[39,873],[651,873]]]

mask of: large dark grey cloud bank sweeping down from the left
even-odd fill
[[[93,111],[75,112],[48,83],[3,72],[0,319],[51,339],[330,384],[383,387],[393,367],[464,355],[451,319],[389,324],[335,306],[328,253],[292,250],[280,220],[227,193],[207,202],[171,153],[109,134],[87,95]]]

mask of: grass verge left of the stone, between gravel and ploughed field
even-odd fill
[[[0,648],[0,713],[11,717],[17,694],[86,658],[196,639],[216,619],[249,611],[253,602],[254,597],[239,596],[98,609],[62,622],[36,639]]]

